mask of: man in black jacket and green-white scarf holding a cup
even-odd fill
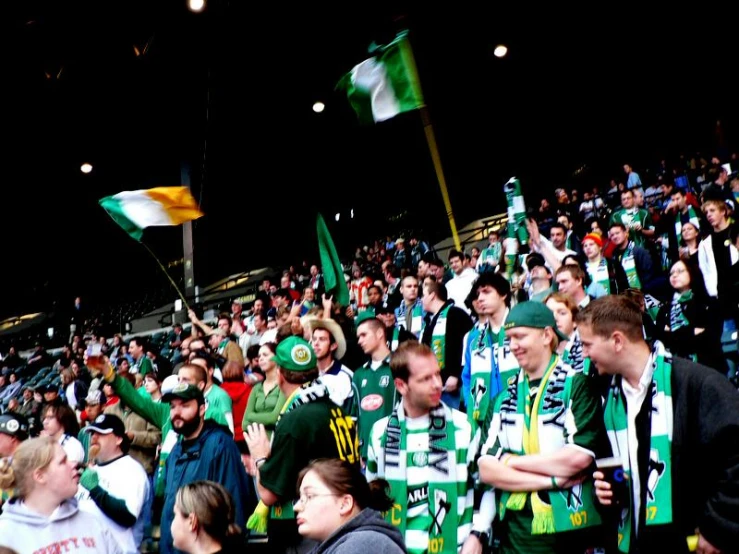
[[[673,358],[642,334],[639,306],[604,296],[577,315],[588,356],[611,376],[604,405],[613,455],[628,476],[628,498],[611,514],[618,550],[735,552],[739,544],[739,395],[726,377]],[[596,494],[613,504],[594,473]]]

